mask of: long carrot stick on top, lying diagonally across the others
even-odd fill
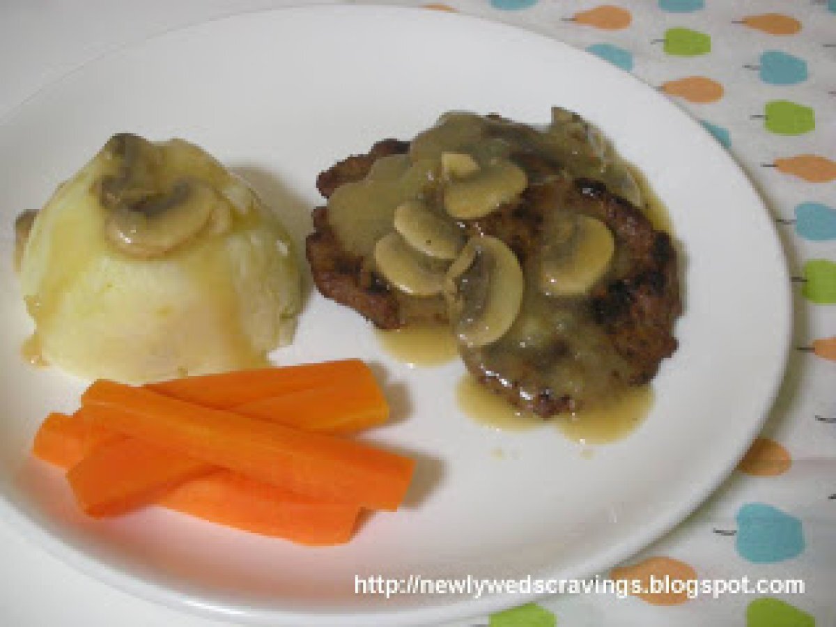
[[[82,396],[94,421],[128,436],[324,501],[395,510],[415,462],[356,441],[213,410],[99,380]]]

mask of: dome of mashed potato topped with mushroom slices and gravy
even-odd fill
[[[44,359],[129,382],[266,364],[300,307],[288,233],[249,187],[126,133],[38,212],[20,279]]]

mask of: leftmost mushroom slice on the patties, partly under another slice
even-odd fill
[[[449,265],[416,251],[397,232],[375,244],[375,264],[389,283],[412,296],[440,294]]]

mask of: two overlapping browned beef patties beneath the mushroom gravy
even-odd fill
[[[578,140],[579,128],[587,134],[583,140],[589,138],[589,126],[578,122],[577,116],[568,118],[576,122],[568,140],[565,125],[553,133],[553,140],[561,140],[558,148],[543,147],[538,135],[533,135],[537,131],[529,127],[497,117],[480,120],[480,141],[487,145],[484,142],[499,140],[503,158],[525,171],[526,186],[487,215],[454,222],[465,239],[492,236],[504,242],[517,257],[526,282],[519,314],[507,332],[488,344],[460,344],[467,369],[513,405],[543,416],[577,410],[624,386],[647,383],[657,373],[660,361],[676,349],[672,329],[681,314],[681,299],[669,235],[656,230],[643,212],[611,191],[612,181],[624,176],[623,169],[613,174],[610,168],[609,179],[586,176],[590,171],[593,176],[602,171],[590,167],[589,162],[598,163],[594,159],[605,156],[604,152],[587,155],[585,162],[583,155],[580,163],[572,161],[579,150],[566,150],[567,141]],[[553,122],[553,127],[556,125]],[[456,129],[448,134],[458,142],[453,148],[468,145],[466,141],[472,146],[472,137],[461,140],[460,135],[466,133]],[[472,135],[475,131],[467,132]],[[436,139],[422,139],[421,145],[411,148],[409,142],[380,141],[368,153],[349,156],[320,174],[319,191],[330,199],[340,186],[362,185],[373,166],[391,155],[409,153],[411,162],[421,161],[426,146]],[[614,159],[612,155],[607,158]],[[431,171],[416,187],[428,204],[443,201],[439,178],[438,171]],[[628,191],[623,195],[630,195],[630,187],[625,189]],[[351,211],[362,221],[363,206]],[[306,242],[308,262],[321,293],[354,308],[380,329],[399,329],[426,320],[447,321],[449,308],[444,298],[416,297],[396,288],[380,272],[374,255],[356,246],[352,249],[341,239],[329,212],[329,206],[314,211],[314,232]],[[603,222],[614,241],[606,273],[580,297],[543,295],[532,279],[543,263],[543,250],[554,237],[556,215],[587,216]]]

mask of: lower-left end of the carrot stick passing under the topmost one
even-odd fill
[[[186,479],[212,472],[196,461],[131,437],[97,446],[67,473],[76,502],[89,516],[125,513]]]

